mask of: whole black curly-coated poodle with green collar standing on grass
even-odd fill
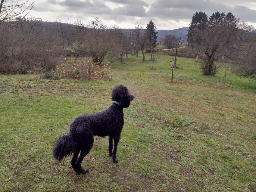
[[[123,108],[129,107],[134,96],[124,85],[118,85],[112,90],[111,97],[113,103],[108,109],[99,113],[84,113],[76,117],[70,125],[69,134],[60,136],[55,141],[53,148],[55,159],[61,161],[65,156],[73,153],[70,163],[77,174],[89,172],[82,168],[81,163],[93,146],[94,135],[109,136],[109,156],[112,156],[114,163],[118,162],[116,154],[124,123]]]

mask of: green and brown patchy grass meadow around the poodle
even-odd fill
[[[203,76],[194,59],[178,57],[170,84],[173,57],[155,57],[114,63],[111,81],[1,75],[0,191],[256,191],[256,81],[228,64]],[[95,137],[88,174],[74,173],[71,156],[55,163],[53,142],[77,115],[107,109],[118,84],[135,96],[119,162],[108,137]]]

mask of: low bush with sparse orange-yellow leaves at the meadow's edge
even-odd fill
[[[55,67],[55,73],[60,79],[111,79],[108,63],[97,65],[86,60],[79,60],[74,63],[63,63]]]

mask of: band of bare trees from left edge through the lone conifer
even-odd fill
[[[118,26],[107,26],[99,18],[92,21],[77,20],[75,23],[63,23],[60,18],[55,22],[45,22],[37,18],[26,18],[22,15],[24,3],[5,6],[1,0],[0,7],[0,73],[23,74],[36,72],[39,69],[53,70],[66,57],[91,57],[92,63],[101,66],[108,54],[113,59],[138,52],[143,54],[148,48],[151,52],[156,46],[157,33],[152,20],[144,29],[137,22],[135,29],[121,29]],[[12,9],[10,9],[12,8]],[[17,9],[14,12],[14,9]],[[11,16],[11,17],[10,17]],[[8,19],[8,18],[11,19]]]

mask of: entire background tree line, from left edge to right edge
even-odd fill
[[[134,29],[107,26],[99,18],[92,21],[77,20],[63,23],[45,22],[36,18],[26,18],[33,3],[7,5],[0,3],[0,73],[17,74],[53,70],[60,58],[74,56],[74,63],[81,56],[91,57],[92,63],[101,66],[108,54],[112,60],[133,54],[138,57],[145,49],[150,52],[150,60],[157,42],[155,23],[149,21],[144,29],[138,22]],[[26,12],[27,11],[27,12]],[[186,38],[186,37],[185,37]],[[184,42],[182,37],[166,35],[163,44],[176,56]],[[220,70],[220,60],[232,63],[232,71],[239,76],[256,78],[256,31],[247,23],[240,22],[233,13],[215,12],[208,17],[204,12],[196,12],[191,19],[187,40],[195,54],[195,61],[205,75],[215,75]]]

